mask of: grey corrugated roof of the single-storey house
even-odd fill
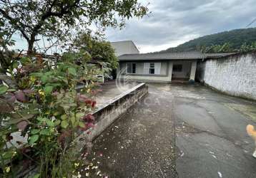
[[[149,60],[182,60],[182,59],[204,59],[205,54],[199,51],[180,51],[167,53],[139,53],[124,54],[119,56],[119,61],[149,61]]]

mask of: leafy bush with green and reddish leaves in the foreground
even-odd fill
[[[89,113],[96,102],[91,96],[97,90],[97,75],[102,70],[89,66],[87,56],[70,53],[54,65],[37,56],[23,57],[11,66],[11,78],[18,88],[0,85],[0,160],[2,176],[16,177],[27,166],[38,165],[40,177],[72,177],[79,165],[72,140],[79,130],[94,124]],[[77,84],[87,81],[79,93]],[[26,142],[14,142],[21,132]],[[23,160],[26,164],[16,165]]]

